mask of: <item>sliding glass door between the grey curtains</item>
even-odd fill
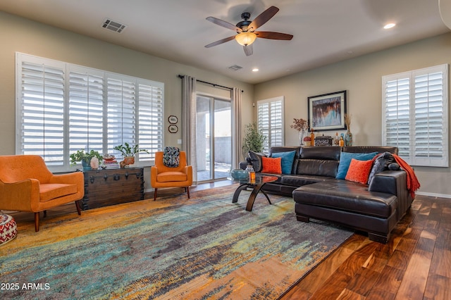
[[[231,102],[213,96],[197,96],[197,180],[225,178],[231,164]]]

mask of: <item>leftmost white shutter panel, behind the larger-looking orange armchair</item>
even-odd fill
[[[49,165],[63,165],[64,65],[18,61],[18,138],[22,154],[42,156]]]

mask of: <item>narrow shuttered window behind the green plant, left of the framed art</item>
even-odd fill
[[[264,151],[283,146],[283,96],[257,101],[257,127],[266,136]]]

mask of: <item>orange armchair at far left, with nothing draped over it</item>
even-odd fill
[[[38,155],[0,156],[0,209],[35,213],[39,231],[39,212],[78,200],[85,195],[83,173],[54,175]]]

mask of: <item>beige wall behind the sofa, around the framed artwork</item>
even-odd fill
[[[307,119],[307,97],[347,90],[354,144],[380,145],[381,77],[450,62],[451,33],[448,33],[261,83],[255,86],[254,100],[285,96],[285,144],[297,145],[297,131],[290,125],[293,118]],[[335,136],[335,132],[324,134]],[[451,197],[451,168],[415,170],[421,183],[419,192]]]

